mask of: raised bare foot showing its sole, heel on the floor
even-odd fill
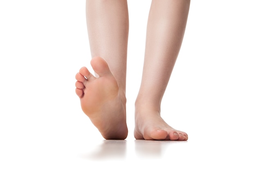
[[[91,65],[98,78],[85,67],[76,74],[81,108],[105,139],[125,139],[128,134],[125,92],[119,90],[104,59],[94,57]]]

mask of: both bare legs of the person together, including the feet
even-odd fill
[[[162,97],[182,44],[190,0],[152,0],[141,87],[135,101],[136,139],[187,140],[160,116]],[[128,8],[126,0],[87,0],[86,19],[95,76],[83,67],[76,94],[106,139],[125,139]],[[154,77],[154,79],[152,79]]]

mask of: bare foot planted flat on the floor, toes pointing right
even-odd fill
[[[142,113],[143,111],[143,113]],[[169,126],[160,116],[159,112],[152,110],[138,110],[135,112],[134,136],[145,140],[187,140],[185,132]]]

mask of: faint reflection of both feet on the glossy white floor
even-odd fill
[[[83,156],[90,160],[110,160],[129,158],[163,158],[173,144],[186,144],[187,141],[157,140],[102,140],[90,148]]]

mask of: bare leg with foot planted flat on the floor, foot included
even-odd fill
[[[169,126],[160,105],[182,44],[190,0],[152,0],[139,94],[135,102],[135,138],[187,140],[185,132]]]

